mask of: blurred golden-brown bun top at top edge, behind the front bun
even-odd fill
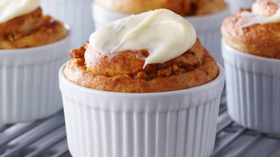
[[[123,14],[166,8],[181,16],[213,14],[227,7],[224,0],[96,0],[96,4]]]

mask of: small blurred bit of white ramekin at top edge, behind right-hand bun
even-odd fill
[[[256,0],[227,0],[230,4],[231,13],[237,13],[241,8],[251,8]]]

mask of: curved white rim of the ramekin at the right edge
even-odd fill
[[[232,50],[233,53],[241,55],[241,56],[245,56],[248,58],[252,58],[252,59],[256,59],[259,61],[263,61],[263,62],[274,62],[274,63],[280,63],[280,59],[275,59],[275,58],[267,58],[267,57],[261,57],[261,56],[257,56],[257,55],[252,55],[243,51],[240,51],[238,49],[235,49],[233,47],[230,47],[224,38],[221,39],[222,40],[222,45],[224,45],[225,47],[227,47],[228,49]]]

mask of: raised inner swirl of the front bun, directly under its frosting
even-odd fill
[[[183,55],[162,64],[148,64],[144,71],[143,65],[145,61],[143,58],[149,56],[147,50],[131,51],[126,50],[120,52],[118,56],[108,58],[103,56],[92,47],[88,47],[86,56],[87,70],[96,74],[111,77],[114,75],[130,75],[136,76],[139,72],[145,72],[152,75],[155,70],[168,69],[173,65],[184,66],[185,69],[193,68],[193,66],[200,64],[204,59],[204,48],[200,45],[199,40]],[[155,68],[156,67],[156,68]]]

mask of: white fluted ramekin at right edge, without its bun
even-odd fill
[[[280,134],[280,60],[250,55],[222,41],[230,117],[242,126]]]

